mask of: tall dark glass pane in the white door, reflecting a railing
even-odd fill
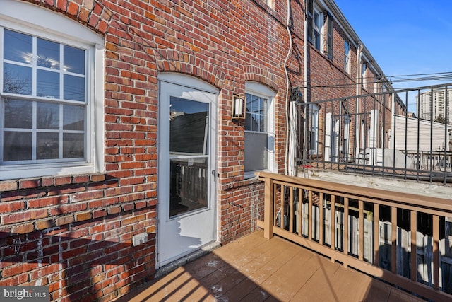
[[[169,217],[208,207],[208,103],[170,98]]]

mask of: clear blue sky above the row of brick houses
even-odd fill
[[[451,72],[451,0],[335,0],[386,76]],[[393,83],[395,88],[446,81]]]

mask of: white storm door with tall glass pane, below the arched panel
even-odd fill
[[[157,267],[215,240],[215,99],[160,81]]]

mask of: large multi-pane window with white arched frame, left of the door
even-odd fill
[[[2,5],[0,180],[102,170],[102,38],[32,4]]]

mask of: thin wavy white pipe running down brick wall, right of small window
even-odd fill
[[[290,33],[290,0],[287,0],[287,22],[286,29],[289,35],[289,50],[287,50],[287,56],[284,61],[285,79],[286,79],[286,95],[285,95],[285,120],[286,120],[286,142],[285,142],[285,175],[295,175],[295,141],[292,136],[295,135],[295,116],[292,114],[292,105],[289,106],[290,95],[290,81],[289,74],[287,73],[287,60],[289,59],[290,52],[292,52],[292,34]],[[289,115],[290,110],[290,115]],[[294,129],[292,129],[292,127]]]

